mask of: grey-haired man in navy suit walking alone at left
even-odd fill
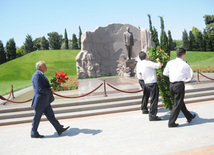
[[[43,138],[37,131],[42,114],[44,113],[47,119],[56,129],[58,135],[66,131],[68,127],[63,128],[58,120],[55,118],[53,109],[50,105],[54,101],[53,92],[54,89],[50,87],[48,79],[45,77],[44,73],[47,71],[47,67],[44,61],[39,61],[36,63],[36,72],[32,76],[33,85],[33,100],[32,107],[34,107],[35,113],[32,122],[31,137],[32,138]]]

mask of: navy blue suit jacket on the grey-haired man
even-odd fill
[[[44,108],[54,101],[50,83],[45,75],[37,70],[32,76],[33,99],[32,107]]]

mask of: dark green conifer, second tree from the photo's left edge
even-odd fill
[[[13,38],[7,42],[6,50],[8,60],[13,60],[16,58],[16,43]]]

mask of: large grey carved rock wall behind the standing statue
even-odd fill
[[[119,73],[119,68],[127,59],[123,38],[127,27],[134,37],[133,58],[138,58],[140,51],[146,51],[152,45],[148,30],[140,30],[129,24],[110,24],[106,27],[98,27],[92,32],[85,32],[81,37],[81,51],[76,57],[78,78]]]

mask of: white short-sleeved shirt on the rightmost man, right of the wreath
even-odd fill
[[[170,82],[186,81],[192,78],[193,71],[183,59],[176,58],[169,61],[163,71],[163,75],[169,76]]]

